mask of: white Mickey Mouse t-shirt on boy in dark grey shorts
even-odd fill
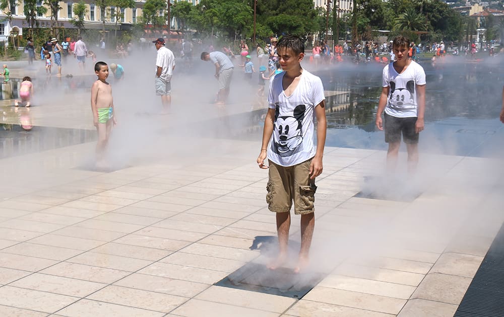
[[[414,60],[403,73],[392,63],[383,68],[383,87],[390,87],[385,113],[398,118],[417,116],[416,86],[425,85],[425,71]]]

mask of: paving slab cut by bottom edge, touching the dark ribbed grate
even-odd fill
[[[411,299],[409,300],[398,317],[453,317],[457,305],[438,301]]]

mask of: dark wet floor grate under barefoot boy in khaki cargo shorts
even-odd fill
[[[292,269],[268,269],[264,264],[247,263],[214,285],[300,299],[326,274],[301,273]]]

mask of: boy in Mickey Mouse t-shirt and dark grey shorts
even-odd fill
[[[385,142],[389,143],[389,172],[397,165],[401,134],[408,150],[408,172],[415,172],[418,164],[418,137],[424,128],[425,71],[417,62],[408,59],[409,45],[409,40],[403,36],[394,39],[396,61],[383,69],[383,89],[376,112],[376,127],[385,129]]]

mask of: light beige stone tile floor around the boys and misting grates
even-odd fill
[[[300,300],[215,286],[275,235],[259,140],[155,138],[111,173],[78,168],[93,143],[0,160],[0,315],[452,316],[504,218],[501,160],[423,154],[397,202],[353,197],[385,152],[327,147],[308,269],[327,276]]]

